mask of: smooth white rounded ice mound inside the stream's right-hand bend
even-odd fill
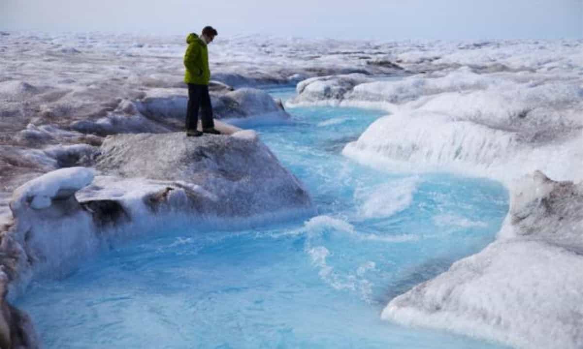
[[[447,170],[507,184],[534,170],[557,179],[583,178],[579,127],[536,129],[496,122],[398,111],[371,124],[343,154],[384,169]]]

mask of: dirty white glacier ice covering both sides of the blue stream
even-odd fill
[[[217,128],[229,136],[184,146],[183,40],[0,37],[2,346],[38,345],[8,298],[35,273],[66,269],[108,238],[192,222],[193,214],[217,226],[309,211],[309,194],[260,137],[221,122],[289,119],[258,89],[270,84],[297,84],[286,108],[387,111],[346,145],[349,158],[487,177],[511,192],[494,243],[391,300],[382,318],[527,349],[583,346],[583,41],[217,40],[210,90]],[[238,163],[241,147],[248,152]],[[185,165],[194,161],[202,167]],[[254,188],[251,205],[239,200]],[[383,210],[385,198],[361,194],[370,216],[408,200],[395,193]],[[51,239],[70,226],[78,233]],[[9,334],[17,329],[20,337]]]

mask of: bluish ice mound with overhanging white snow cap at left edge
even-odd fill
[[[25,286],[33,269],[57,269],[74,255],[92,250],[90,215],[75,199],[94,171],[73,167],[46,173],[15,190],[10,201],[13,222],[2,227],[0,263],[12,287]]]

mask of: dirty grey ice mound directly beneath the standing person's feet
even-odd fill
[[[156,209],[245,218],[311,205],[301,183],[253,131],[118,135],[106,138],[101,152],[96,167],[104,174],[165,181],[169,189]]]

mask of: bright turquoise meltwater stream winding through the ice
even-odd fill
[[[272,90],[289,97],[291,90]],[[380,319],[395,295],[494,240],[499,184],[397,175],[340,151],[382,112],[296,108],[251,125],[318,215],[243,231],[168,230],[120,244],[17,306],[45,348],[501,348]]]

